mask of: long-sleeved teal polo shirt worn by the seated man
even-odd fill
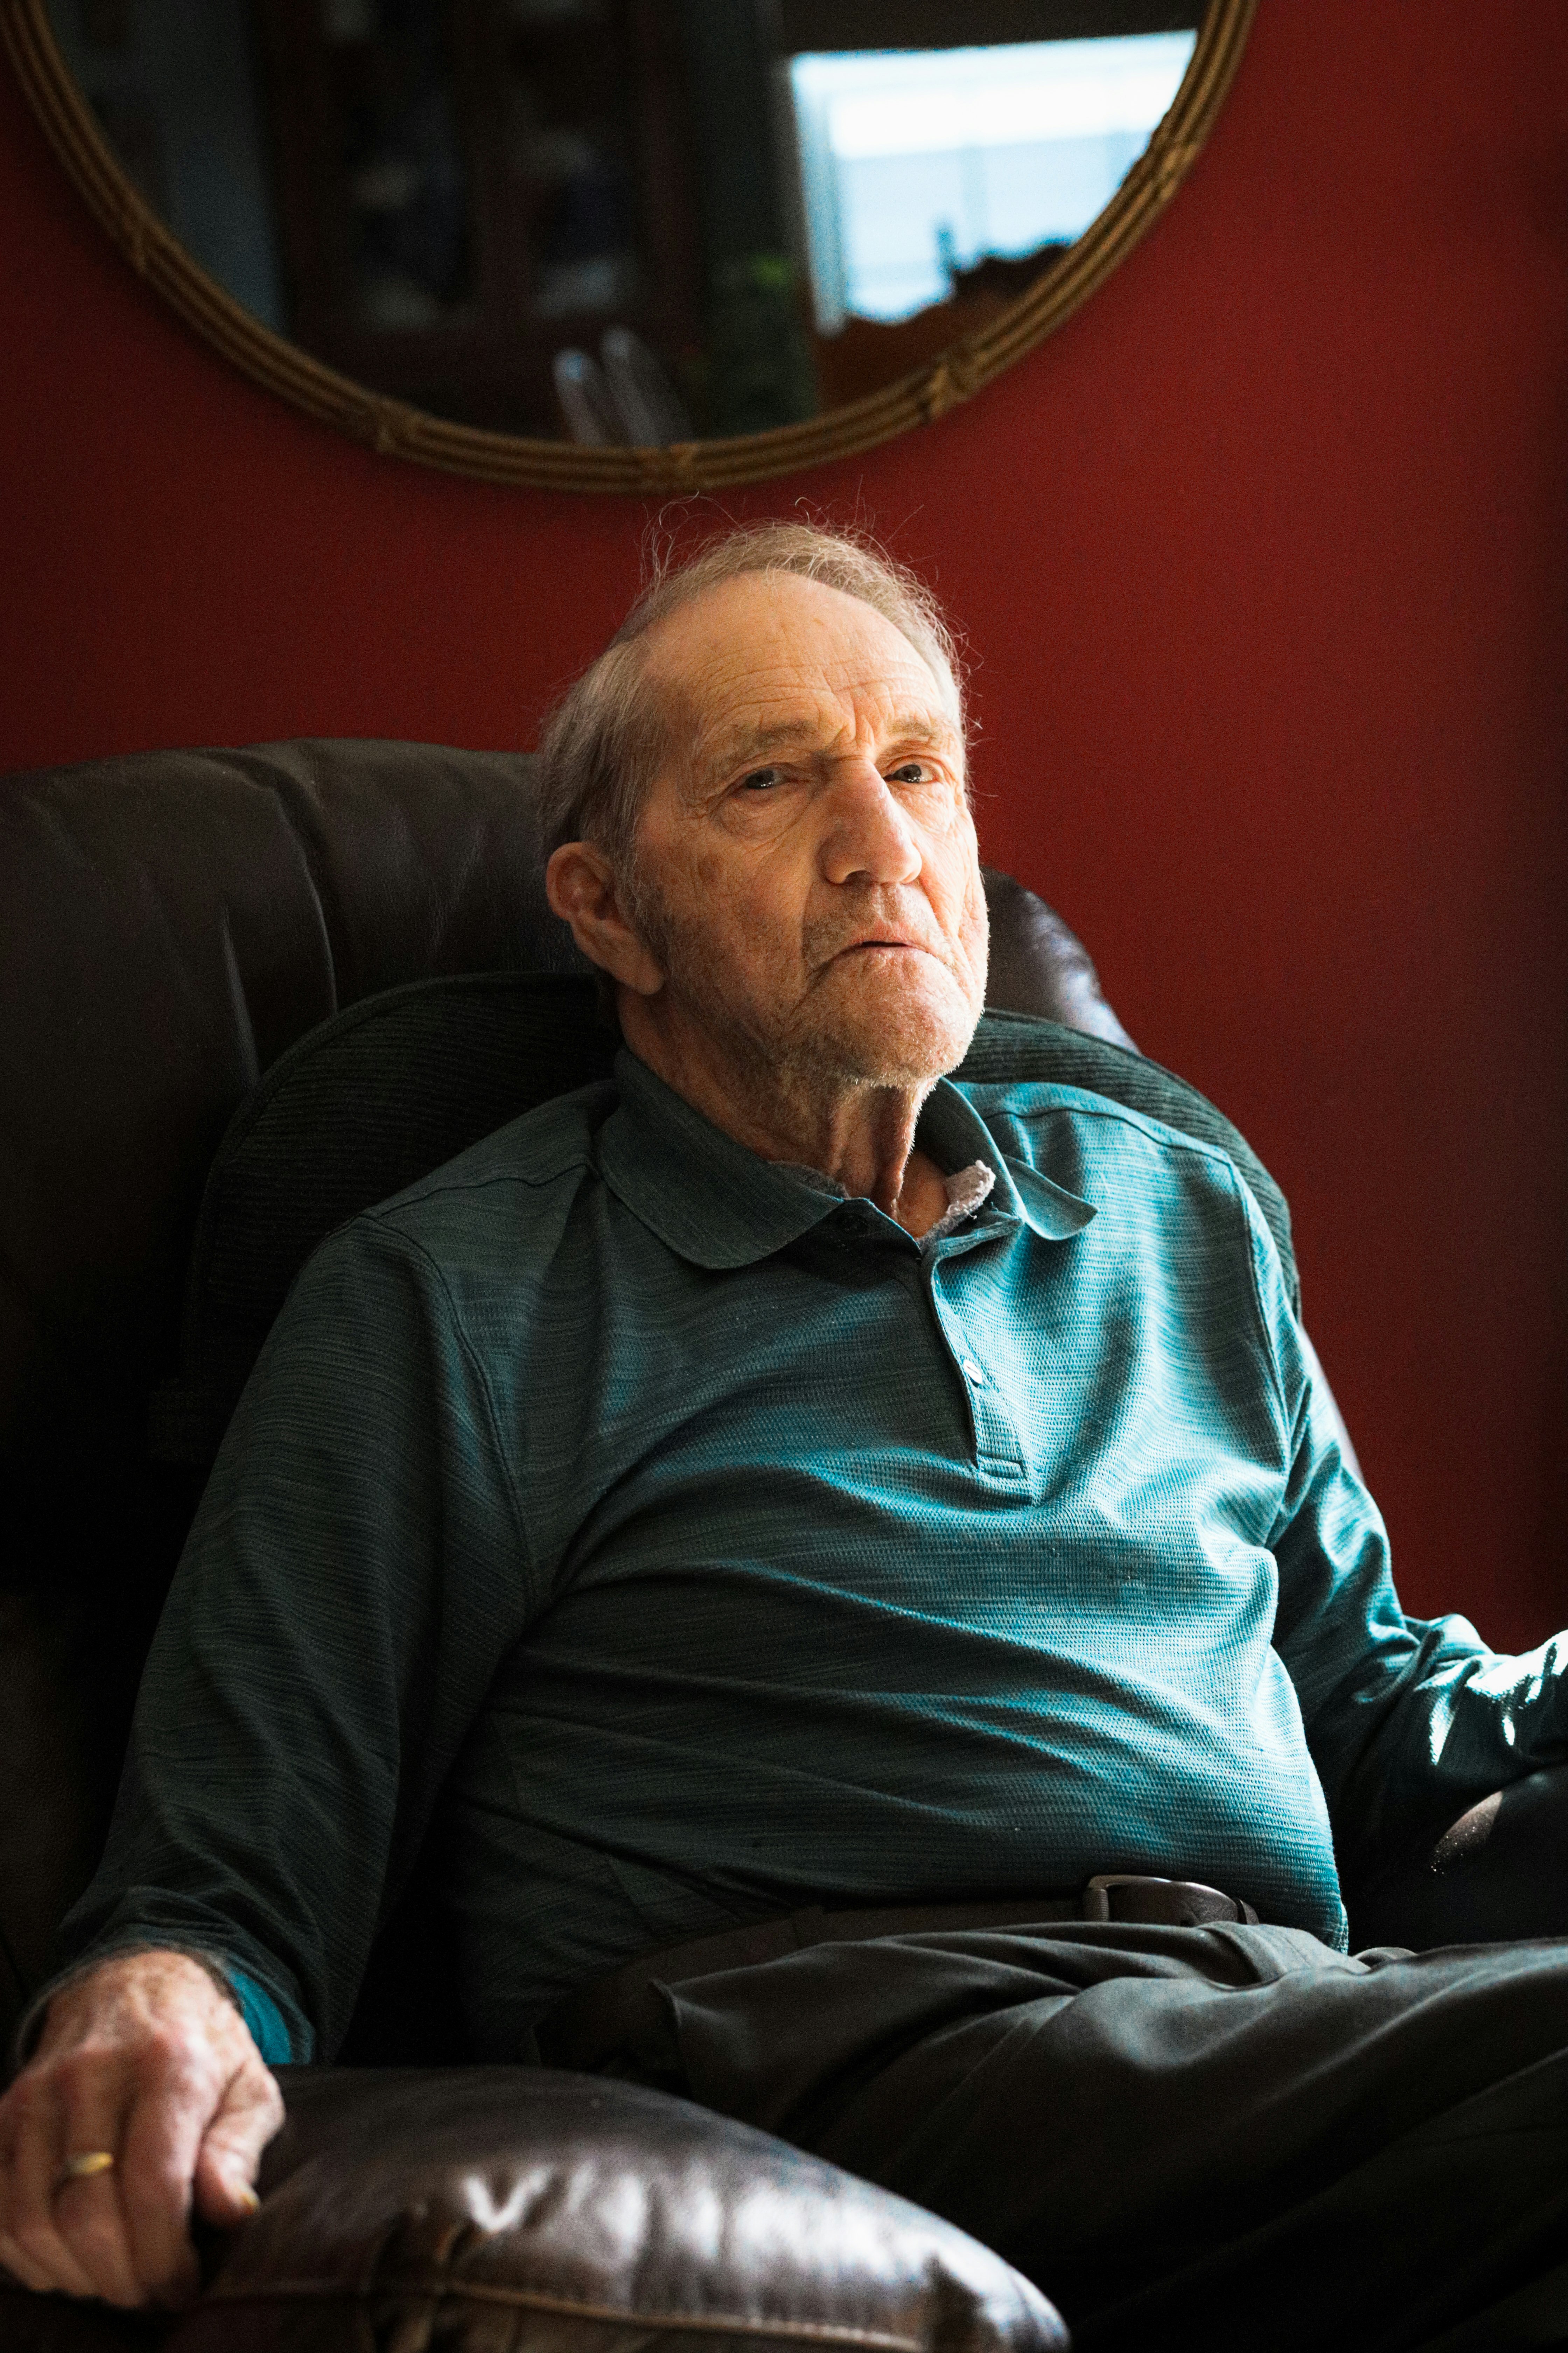
[[[228,1431],[68,1958],[331,2054],[416,1857],[477,2054],[806,1901],[1171,1873],[1345,1939],[1340,1842],[1561,1755],[1408,1621],[1232,1160],[943,1082],[912,1240],[635,1056],[341,1228]]]

